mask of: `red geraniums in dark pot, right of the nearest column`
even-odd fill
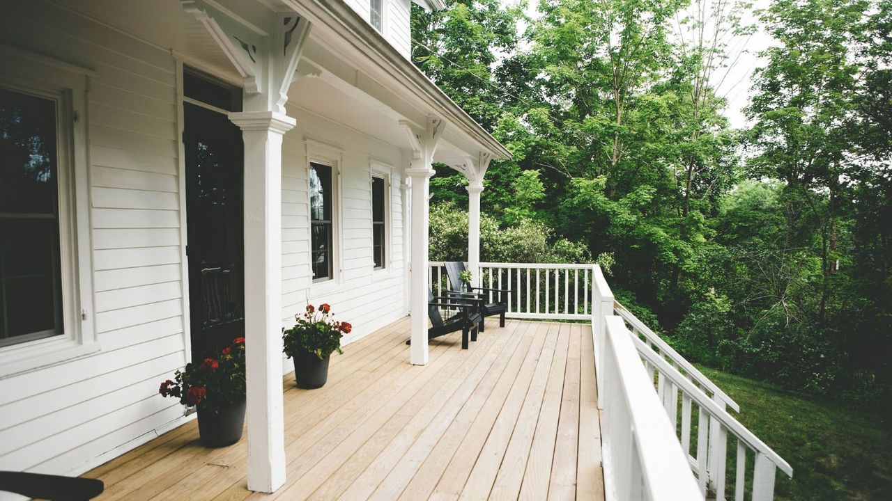
[[[335,322],[331,307],[307,305],[303,315],[295,315],[297,321],[290,329],[282,331],[285,355],[294,359],[294,379],[297,387],[304,390],[321,388],[328,381],[328,359],[332,352],[343,353],[341,338],[350,333],[352,325]]]

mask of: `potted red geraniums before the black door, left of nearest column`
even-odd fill
[[[244,338],[236,338],[217,358],[186,364],[174,380],[161,383],[162,397],[198,408],[202,445],[221,448],[242,438],[244,428]]]

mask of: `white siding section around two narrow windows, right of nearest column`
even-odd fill
[[[335,316],[353,324],[346,341],[359,339],[405,315],[402,263],[401,152],[348,128],[316,115],[289,109],[298,127],[285,135],[283,146],[283,229],[282,229],[282,314],[285,326],[293,324],[307,300],[327,302]],[[304,139],[343,145],[336,188],[336,208],[340,231],[336,247],[340,252],[338,284],[312,283],[310,272],[310,216],[307,213],[308,162]],[[389,193],[390,227],[388,244],[392,263],[381,271],[373,269],[371,165],[370,159],[384,160],[392,169]],[[288,214],[285,215],[285,211]],[[398,232],[398,233],[397,233]],[[399,236],[396,236],[399,235]],[[336,265],[337,267],[337,265]]]

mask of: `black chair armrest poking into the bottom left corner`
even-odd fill
[[[35,499],[87,501],[105,490],[102,480],[43,475],[26,472],[0,472],[0,492],[14,492]]]

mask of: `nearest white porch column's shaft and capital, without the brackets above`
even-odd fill
[[[229,115],[244,138],[244,332],[248,489],[285,483],[282,398],[282,135],[295,120],[273,111]]]

